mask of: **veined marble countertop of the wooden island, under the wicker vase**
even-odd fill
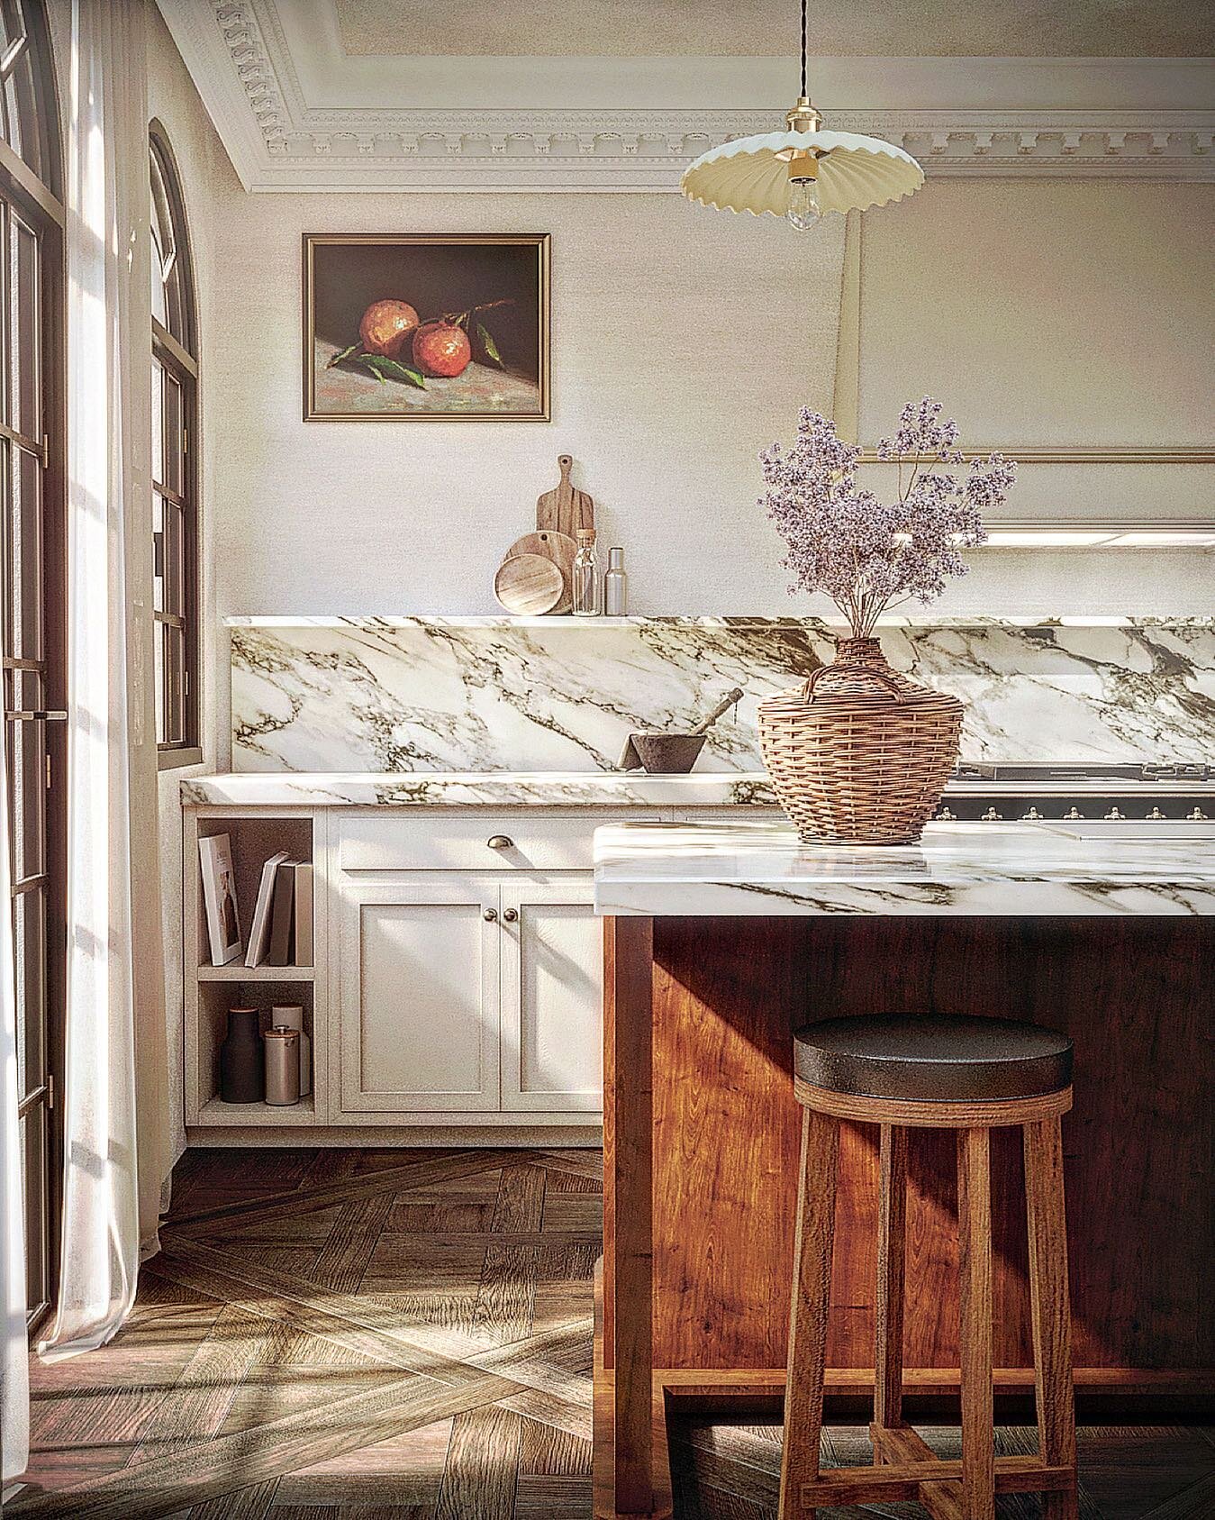
[[[1215,914],[1215,825],[934,822],[917,845],[803,845],[781,822],[595,830],[595,910],[1092,917]]]

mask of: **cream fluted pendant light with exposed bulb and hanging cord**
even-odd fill
[[[680,190],[718,211],[770,211],[799,233],[828,211],[864,211],[914,195],[923,184],[916,160],[893,143],[858,132],[826,132],[806,93],[806,0],[802,0],[802,93],[787,131],[740,137],[702,154],[683,170]]]

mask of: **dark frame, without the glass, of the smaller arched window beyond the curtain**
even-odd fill
[[[175,299],[170,301],[167,315],[178,328],[172,331],[156,316],[152,318],[152,359],[166,375],[178,386],[181,397],[179,416],[176,420],[179,438],[173,448],[167,448],[170,412],[161,409],[161,424],[166,429],[161,458],[170,453],[179,458],[179,479],[175,483],[153,480],[158,496],[170,505],[169,509],[181,515],[181,585],[179,600],[172,608],[156,605],[153,611],[153,635],[158,649],[166,637],[166,626],[179,629],[181,664],[175,660],[161,661],[161,692],[158,693],[158,708],[170,713],[179,710],[181,725],[175,737],[156,737],[156,755],[161,771],[178,769],[181,766],[199,765],[202,760],[200,739],[200,565],[199,537],[202,509],[199,502],[199,462],[197,462],[197,416],[199,416],[199,362],[197,362],[197,302],[194,296],[194,266],[190,252],[190,230],[185,216],[185,201],[181,192],[181,173],[173,155],[169,135],[164,126],[153,120],[149,126],[149,187],[152,195],[152,216],[158,219],[156,190],[163,190],[163,211],[169,220],[173,239],[175,264],[173,277],[178,284]],[[155,179],[152,170],[155,166]],[[158,181],[158,184],[156,184]],[[155,377],[153,368],[153,377]],[[170,485],[173,488],[170,488]],[[155,529],[153,529],[155,535]],[[169,556],[169,535],[161,530],[158,543],[153,543],[153,555],[159,564]],[[164,568],[164,565],[163,565]]]

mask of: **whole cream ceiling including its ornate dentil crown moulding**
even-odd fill
[[[156,3],[257,190],[677,195],[691,158],[772,131],[796,91],[796,0]],[[931,176],[1210,181],[1212,15],[811,0],[811,91]]]

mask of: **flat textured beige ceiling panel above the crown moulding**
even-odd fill
[[[351,56],[782,56],[796,0],[333,0]],[[1207,0],[817,0],[828,58],[1203,58]]]

